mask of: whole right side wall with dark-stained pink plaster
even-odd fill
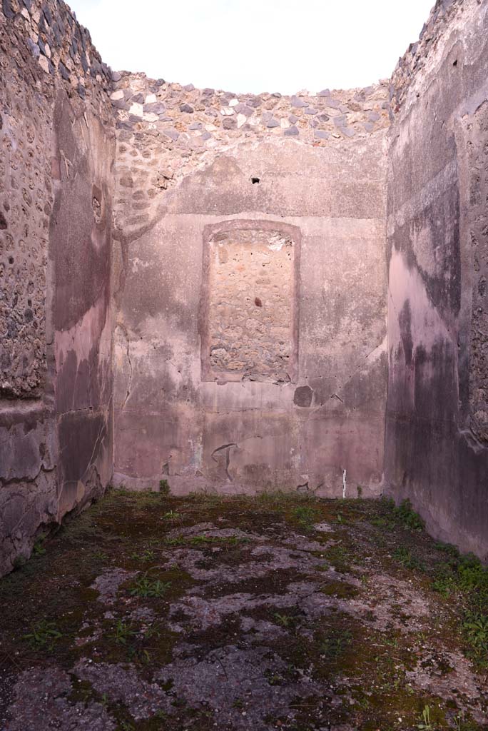
[[[438,2],[392,77],[386,484],[488,558],[488,7]]]

